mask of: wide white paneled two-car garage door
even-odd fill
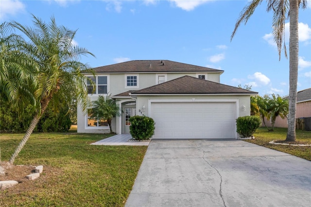
[[[235,103],[152,103],[154,139],[235,138]]]

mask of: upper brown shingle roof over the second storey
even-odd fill
[[[136,73],[136,72],[220,72],[224,70],[210,69],[170,60],[132,60],[92,69],[97,73]]]

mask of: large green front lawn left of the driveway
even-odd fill
[[[54,171],[29,181],[31,189],[1,191],[0,206],[124,206],[147,146],[89,145],[110,136],[34,133],[14,164]],[[22,137],[1,134],[1,161],[9,160]]]

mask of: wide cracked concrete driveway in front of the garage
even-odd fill
[[[152,140],[125,207],[307,207],[311,162],[242,140]]]

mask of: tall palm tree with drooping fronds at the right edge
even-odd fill
[[[263,0],[252,0],[246,5],[236,22],[231,35],[231,40],[237,32],[238,27],[243,22],[247,23],[257,6]],[[287,130],[287,141],[295,141],[295,119],[296,119],[296,99],[297,99],[297,79],[298,79],[298,13],[299,6],[307,7],[307,0],[267,0],[267,12],[273,11],[273,35],[278,49],[279,59],[281,58],[282,47],[287,57],[285,38],[285,19],[290,18],[290,75],[289,75],[289,120]]]

